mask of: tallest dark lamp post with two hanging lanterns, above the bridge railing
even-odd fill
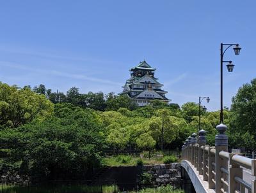
[[[223,47],[227,46],[227,48],[223,52]],[[241,48],[238,44],[230,44],[230,43],[221,43],[220,44],[220,123],[223,123],[223,62],[228,62],[227,69],[228,72],[232,72],[234,69],[234,64],[232,64],[232,61],[223,61],[223,56],[228,48],[231,46],[234,46],[233,50],[235,52],[235,55],[240,54]]]

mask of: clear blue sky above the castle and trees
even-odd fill
[[[146,59],[172,103],[211,97],[220,108],[220,43],[228,50],[224,105],[256,76],[255,1],[0,1],[0,80],[66,92],[120,92]]]

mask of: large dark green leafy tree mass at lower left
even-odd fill
[[[0,141],[10,148],[10,162],[31,176],[55,179],[99,166],[104,138],[101,123],[90,110],[56,104],[55,116],[17,129],[4,129]]]

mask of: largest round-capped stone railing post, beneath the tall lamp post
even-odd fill
[[[216,150],[216,155],[215,155],[215,179],[216,179],[216,184],[215,184],[215,192],[216,193],[222,193],[221,188],[223,187],[223,184],[221,182],[221,178],[223,174],[221,173],[221,168],[228,168],[228,162],[225,159],[220,158],[219,153],[221,151],[228,152],[228,136],[225,134],[225,131],[227,131],[227,126],[224,124],[217,125],[216,127],[217,131],[219,132],[215,136],[215,150]]]

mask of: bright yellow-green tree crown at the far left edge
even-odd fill
[[[44,95],[36,94],[28,87],[19,89],[0,82],[0,125],[18,127],[32,120],[51,116],[53,105]]]

